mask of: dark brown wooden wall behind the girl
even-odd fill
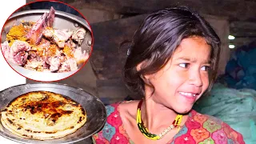
[[[33,0],[27,0],[33,2]],[[147,13],[168,6],[190,6],[210,22],[222,39],[219,74],[224,73],[230,53],[256,39],[256,2],[254,0],[62,0],[83,14],[93,30],[94,47],[90,62],[77,74],[59,81],[81,87],[102,98],[106,104],[118,102],[130,95],[122,82],[122,66],[126,47],[122,41],[131,38]],[[229,40],[228,35],[234,35]],[[229,49],[229,44],[234,49]],[[33,83],[27,79],[28,83]]]

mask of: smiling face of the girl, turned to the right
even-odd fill
[[[209,86],[210,49],[204,38],[183,39],[162,70],[145,75],[154,86],[149,98],[177,113],[189,112]]]

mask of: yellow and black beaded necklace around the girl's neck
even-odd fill
[[[168,132],[170,132],[170,130],[174,129],[174,127],[178,127],[178,130],[180,128],[180,124],[182,122],[182,115],[178,114],[177,117],[174,119],[174,122],[166,128],[166,130],[163,130],[161,134],[151,134],[149,132],[149,130],[147,130],[146,126],[144,125],[144,123],[142,122],[142,102],[143,99],[138,102],[138,110],[137,110],[137,124],[138,124],[138,129],[142,132],[142,134],[149,139],[152,140],[158,140],[163,138]]]

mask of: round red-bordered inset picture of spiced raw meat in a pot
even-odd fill
[[[6,20],[1,33],[6,62],[18,74],[40,82],[75,74],[88,61],[92,46],[89,22],[63,2],[22,6]]]

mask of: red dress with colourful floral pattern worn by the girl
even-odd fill
[[[118,111],[120,103],[106,106],[107,120],[103,129],[94,134],[97,144],[134,144],[124,129]],[[242,134],[233,130],[225,122],[209,115],[191,110],[185,125],[170,140],[170,144],[243,144]]]

